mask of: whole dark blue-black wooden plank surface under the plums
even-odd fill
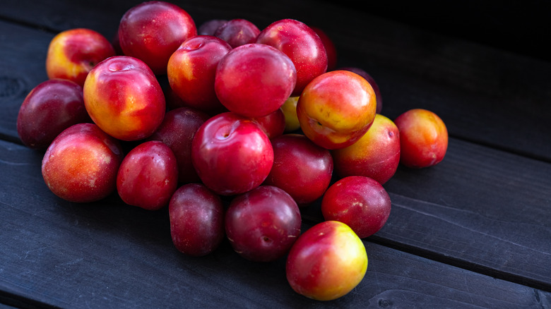
[[[401,166],[385,184],[389,221],[363,240],[365,278],[336,301],[292,291],[283,258],[249,262],[227,242],[207,257],[182,255],[172,245],[166,209],[148,212],[115,195],[86,205],[54,196],[40,175],[43,152],[18,138],[20,104],[47,78],[47,45],[57,32],[86,27],[112,37],[122,14],[138,3],[1,5],[0,304],[551,308],[551,61],[470,40],[468,25],[461,36],[446,35],[444,23],[432,31],[346,1],[175,2],[198,25],[247,18],[263,28],[296,18],[319,26],[335,42],[340,66],[359,66],[377,80],[381,114],[394,119],[421,107],[446,123],[444,161],[422,170]],[[319,205],[303,210],[303,218],[304,229],[320,222]]]

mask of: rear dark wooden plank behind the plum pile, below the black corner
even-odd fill
[[[88,27],[112,37],[124,11],[139,2],[49,1],[29,8],[24,1],[10,0],[3,4],[2,16],[52,31]],[[456,138],[551,162],[550,62],[411,28],[336,1],[174,3],[198,24],[210,18],[247,18],[263,28],[280,18],[297,18],[319,26],[336,43],[340,66],[360,66],[377,80],[384,97],[382,114],[394,119],[410,108],[431,109]],[[40,18],[30,9],[40,12]]]

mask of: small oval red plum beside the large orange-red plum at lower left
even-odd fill
[[[177,189],[178,166],[170,147],[158,140],[137,145],[117,173],[117,192],[128,205],[160,210]]]

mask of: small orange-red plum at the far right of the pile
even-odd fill
[[[448,149],[448,131],[442,119],[427,109],[410,109],[394,120],[400,131],[400,162],[422,169],[442,162]]]

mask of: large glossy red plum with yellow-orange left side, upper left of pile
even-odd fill
[[[90,118],[119,140],[148,138],[165,116],[165,95],[146,63],[112,56],[97,63],[85,80],[84,105]]]

